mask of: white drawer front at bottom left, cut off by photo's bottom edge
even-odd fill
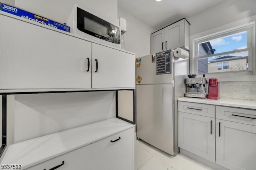
[[[32,166],[26,170],[50,170],[58,165],[62,165],[57,168],[58,170],[90,170],[91,144]]]

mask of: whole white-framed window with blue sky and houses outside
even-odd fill
[[[194,73],[253,70],[254,22],[193,40]]]

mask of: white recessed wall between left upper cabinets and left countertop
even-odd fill
[[[14,143],[116,117],[115,91],[15,95]]]

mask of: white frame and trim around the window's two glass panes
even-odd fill
[[[232,25],[232,24],[230,24]],[[213,29],[213,30],[219,30],[218,32],[214,32],[212,34],[208,34],[206,35],[206,32],[202,33],[203,36],[197,36],[197,38],[192,39],[192,59],[190,59],[190,74],[198,74],[198,76],[201,76],[202,73],[197,73],[198,71],[198,63],[197,60],[198,59],[204,59],[204,58],[208,58],[208,57],[212,57],[212,56],[216,56],[216,55],[226,55],[226,54],[230,54],[230,53],[238,53],[238,52],[243,52],[243,51],[248,51],[248,70],[244,70],[244,71],[222,71],[222,72],[215,72],[215,73],[204,73],[207,74],[207,77],[215,77],[215,78],[219,78],[219,77],[229,77],[228,79],[230,81],[238,81],[237,78],[235,78],[235,76],[237,75],[255,75],[255,70],[256,70],[256,56],[255,54],[255,21],[254,22],[250,22],[247,24],[243,24],[240,26],[236,26],[236,27],[232,27],[232,28],[228,28],[226,30],[220,30],[220,29]],[[230,36],[232,34],[237,34],[240,32],[244,32],[247,31],[247,48],[244,49],[236,49],[233,51],[226,51],[224,53],[216,53],[216,54],[210,54],[210,55],[203,55],[198,57],[198,48],[199,48],[199,44],[203,43],[203,42],[208,42],[210,40],[214,40],[217,38],[222,38],[225,36]],[[212,30],[209,30],[207,32],[213,32]],[[199,34],[200,35],[200,34]],[[231,76],[231,77],[230,77]],[[225,79],[225,78],[224,78]],[[234,80],[233,80],[234,79]],[[248,77],[246,78],[248,79]]]

